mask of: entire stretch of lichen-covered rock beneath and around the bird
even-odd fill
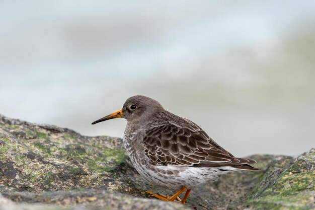
[[[183,206],[143,192],[172,194],[140,177],[120,138],[0,115],[0,210],[315,208],[315,149],[250,158],[261,171],[224,175],[193,189]]]

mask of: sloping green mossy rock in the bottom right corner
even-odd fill
[[[286,159],[283,161],[281,165],[289,163]],[[312,169],[312,162],[313,157],[307,154],[276,177],[272,177],[272,173],[266,173],[264,177],[267,176],[269,182],[274,184],[267,189],[264,189],[263,184],[258,184],[254,193],[261,193],[258,197],[250,197],[243,206],[250,209],[314,209],[315,171]]]

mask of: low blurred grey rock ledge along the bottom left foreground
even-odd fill
[[[76,189],[76,190],[60,190],[46,191],[43,193],[32,192],[4,192],[4,198],[0,195],[0,210],[8,209],[143,209],[157,210],[169,209],[180,210],[189,209],[179,203],[161,202],[156,199],[146,199],[122,194],[118,192],[110,192],[102,189]],[[15,202],[13,202],[13,201]],[[19,202],[27,202],[18,204]],[[40,204],[39,204],[40,203]]]

